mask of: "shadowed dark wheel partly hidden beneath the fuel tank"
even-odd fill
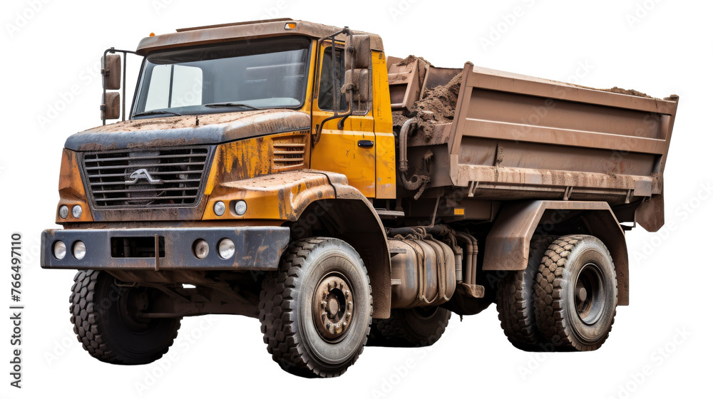
[[[438,306],[431,308],[391,309],[391,317],[374,323],[373,346],[414,348],[431,346],[443,336],[451,311]],[[370,341],[371,341],[370,337]]]

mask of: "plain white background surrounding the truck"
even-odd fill
[[[687,398],[706,395],[712,279],[709,176],[712,40],[708,1],[99,1],[8,0],[0,6],[0,257],[24,234],[23,380],[9,386],[9,311],[0,315],[0,375],[8,398],[164,398],[215,395],[329,398]],[[516,10],[519,7],[519,10]],[[508,16],[517,11],[519,16]],[[387,55],[478,66],[586,86],[681,96],[665,173],[667,225],[627,234],[631,305],[590,353],[515,350],[495,306],[451,325],[429,349],[366,348],[341,378],[282,372],[257,320],[184,319],[170,358],[111,366],[71,332],[72,271],[39,268],[39,235],[53,228],[61,149],[100,123],[97,61],[148,33],[292,17],[379,33]],[[487,43],[490,41],[490,43]],[[74,92],[73,94],[68,94]],[[707,187],[704,190],[703,187]],[[9,261],[0,261],[0,304]],[[642,371],[649,371],[644,374]]]

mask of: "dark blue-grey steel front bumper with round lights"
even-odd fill
[[[222,259],[217,254],[221,239],[232,239],[235,256]],[[113,257],[112,239],[143,239],[155,243],[153,257]],[[210,252],[205,259],[193,254],[193,243],[205,239]],[[66,244],[67,254],[54,257],[54,243]],[[86,245],[86,255],[78,260],[73,244]],[[289,242],[289,227],[168,228],[168,229],[60,229],[42,233],[43,269],[126,269],[126,270],[276,270]],[[116,255],[116,254],[115,254]]]

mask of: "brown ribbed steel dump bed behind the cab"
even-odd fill
[[[468,187],[469,197],[481,199],[597,200],[612,207],[653,199],[652,209],[641,212],[662,207],[677,96],[597,90],[471,63],[461,71],[398,61],[389,67],[394,123],[416,117],[421,131],[409,138],[409,161],[419,165],[419,157],[433,153],[431,185]],[[450,83],[439,88],[429,76]],[[450,111],[448,84],[458,90],[453,114],[437,115]],[[662,219],[643,223],[657,229]]]

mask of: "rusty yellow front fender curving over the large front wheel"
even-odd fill
[[[369,199],[350,186],[346,176],[324,170],[292,170],[227,182],[213,190],[203,219],[235,218],[232,212],[218,217],[212,209],[217,201],[231,204],[237,200],[247,204],[242,219],[289,227],[290,241],[319,235],[352,245],[369,273],[374,318],[389,317],[391,258],[386,232]]]

